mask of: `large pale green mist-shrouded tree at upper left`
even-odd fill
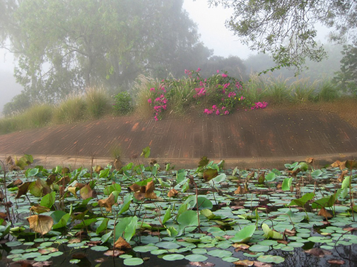
[[[140,73],[177,75],[211,56],[182,2],[0,0],[0,44],[31,101],[93,86],[116,92]]]

